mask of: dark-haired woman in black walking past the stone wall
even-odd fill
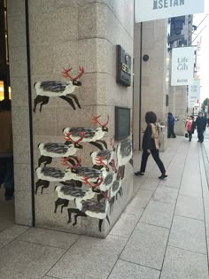
[[[166,169],[163,165],[161,159],[159,159],[159,133],[156,127],[157,116],[155,112],[146,112],[145,121],[147,127],[143,134],[143,155],[140,171],[135,172],[136,176],[143,175],[145,173],[147,159],[151,156],[155,160],[156,164],[159,167],[161,175],[159,179],[164,179],[167,177]]]

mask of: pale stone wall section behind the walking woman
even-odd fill
[[[139,65],[142,63],[142,92],[141,92],[141,125],[146,127],[144,115],[148,111],[156,112],[160,122],[166,122],[166,94],[168,94],[169,60],[166,50],[167,20],[156,20],[143,23],[142,61],[140,61],[140,25],[135,25],[135,121],[139,110]],[[148,55],[148,61],[143,56]],[[135,122],[136,128],[136,122]],[[135,130],[141,133],[139,130]],[[135,135],[135,149],[138,149],[138,135]],[[166,130],[163,129],[161,137],[161,150],[166,148]],[[141,135],[142,139],[142,135]],[[140,144],[139,144],[140,145]]]

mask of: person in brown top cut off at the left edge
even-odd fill
[[[14,193],[11,108],[11,100],[0,102],[0,185],[4,183],[5,199]]]

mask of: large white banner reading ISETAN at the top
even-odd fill
[[[204,12],[204,0],[135,0],[135,22]]]

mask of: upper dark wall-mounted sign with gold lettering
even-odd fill
[[[131,57],[128,53],[117,45],[118,66],[117,66],[117,82],[130,86],[131,84]]]

